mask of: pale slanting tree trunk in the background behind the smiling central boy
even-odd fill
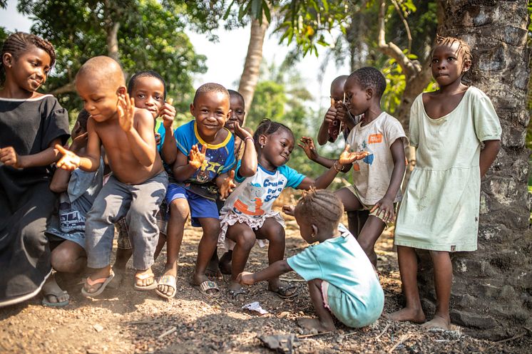
[[[259,80],[260,62],[262,61],[262,43],[264,43],[267,28],[268,21],[264,15],[262,15],[262,24],[257,19],[253,19],[251,22],[250,44],[247,46],[244,71],[242,71],[240,85],[238,85],[238,92],[244,97],[246,112],[250,112],[253,95],[255,94],[255,88]]]

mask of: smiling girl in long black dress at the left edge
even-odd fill
[[[68,140],[68,113],[36,90],[55,61],[51,43],[33,34],[13,33],[1,50],[0,307],[36,296],[51,272],[50,165],[58,158],[53,146]]]

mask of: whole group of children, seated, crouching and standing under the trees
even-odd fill
[[[438,303],[426,326],[449,328],[449,252],[476,249],[480,178],[497,155],[501,127],[486,95],[461,83],[471,66],[467,44],[437,38],[431,56],[439,90],[419,95],[412,106],[417,165],[402,199],[409,142],[401,123],[381,109],[386,80],[376,68],[334,80],[317,140],[324,144],[344,132],[347,144],[329,160],[317,154],[312,138],[302,137],[307,156],[327,167],[312,179],[286,165],[296,142],[286,125],[265,119],[253,134],[242,127],[245,103],[236,91],[201,85],[190,104],[194,119],[173,130],[175,108],[163,78],[141,71],[126,86],[119,64],[103,56],[86,61],[76,75],[84,109],[66,146],[66,111],[52,95],[36,92],[53,67],[53,47],[31,34],[12,34],[0,66],[0,306],[41,289],[45,305],[66,305],[68,293],[52,268],[89,269],[81,292],[98,296],[120,285],[130,256],[135,289],[173,298],[190,217],[203,230],[192,278],[201,293],[220,295],[208,277],[218,271],[210,267],[218,247],[227,251],[220,268],[230,273],[230,298],[242,300],[244,286],[262,280],[282,298],[296,296],[297,288],[279,278],[293,270],[307,281],[318,316],[301,319],[301,326],[333,330],[333,316],[347,326],[367,326],[384,306],[374,244],[402,199],[395,244],[406,308],[389,316],[424,322],[414,249],[429,249]],[[325,190],[351,168],[351,186]],[[311,245],[288,259],[284,221],[272,208],[285,187],[307,191],[282,211],[295,217]],[[344,211],[351,213],[352,232],[339,224]],[[245,272],[252,247],[265,241],[270,266]],[[164,244],[165,269],[156,277],[151,266]]]

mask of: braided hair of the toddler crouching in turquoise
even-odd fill
[[[333,192],[310,189],[309,192],[303,192],[296,204],[296,211],[305,215],[311,224],[335,229],[344,215],[344,205]]]

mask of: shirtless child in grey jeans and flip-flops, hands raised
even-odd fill
[[[91,114],[86,157],[64,150],[58,167],[94,171],[100,165],[101,145],[113,175],[96,197],[86,220],[87,266],[94,269],[83,285],[83,296],[98,296],[114,274],[110,256],[114,226],[126,216],[133,241],[135,289],[155,288],[151,271],[159,230],[155,222],[163,202],[168,177],[155,149],[153,116],[135,108],[129,98],[120,66],[113,59],[89,59],[76,75],[76,90]],[[118,102],[117,102],[118,101]]]

